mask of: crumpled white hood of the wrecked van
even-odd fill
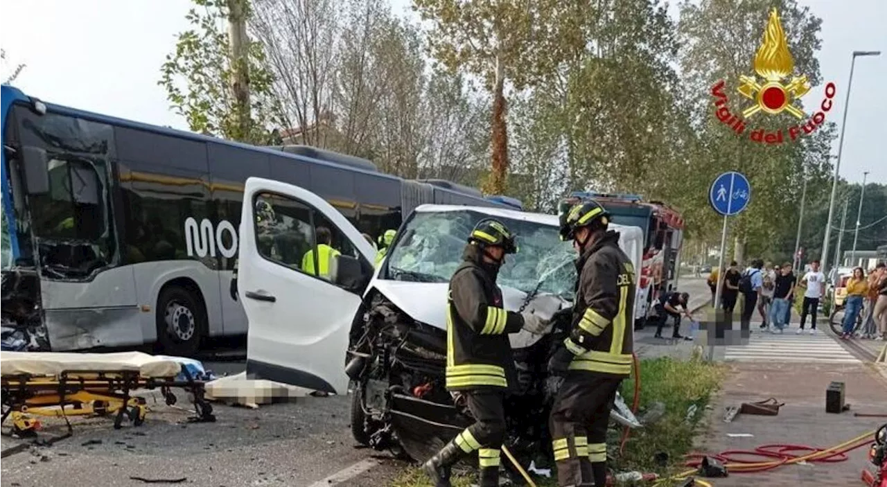
[[[374,279],[372,287],[412,319],[446,331],[446,295],[449,283]],[[502,286],[501,289],[505,309],[519,310],[527,294],[514,287]],[[540,295],[536,299],[540,300],[540,306],[549,310],[569,306],[569,302],[554,295]],[[542,301],[545,301],[545,304],[542,304]],[[520,333],[509,334],[508,338],[512,348],[517,349],[529,347],[541,336],[522,330]]]

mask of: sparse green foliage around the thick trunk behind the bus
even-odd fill
[[[178,35],[158,82],[167,90],[171,108],[195,132],[255,144],[273,142],[268,125],[276,111],[269,98],[272,78],[262,46],[245,39],[246,59],[235,59],[225,27],[232,6],[234,12],[250,17],[247,0],[192,2],[185,18],[193,28]],[[247,107],[239,97],[244,90]]]

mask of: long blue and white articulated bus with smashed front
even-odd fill
[[[206,337],[246,334],[229,288],[247,177],[314,192],[373,240],[423,203],[520,204],[310,147],[256,147],[51,105],[5,85],[0,134],[0,332],[28,350],[156,342],[188,355]],[[324,226],[349,251],[334,224],[304,210],[313,226],[304,247]]]

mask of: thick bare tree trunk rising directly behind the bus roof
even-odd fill
[[[247,20],[244,0],[228,0],[228,35],[231,39],[231,93],[234,99],[235,139],[252,142],[249,110],[249,62],[247,44]]]

